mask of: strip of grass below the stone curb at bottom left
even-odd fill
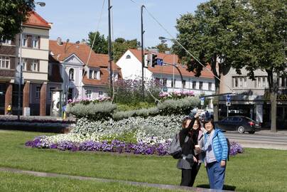
[[[104,191],[104,192],[168,192],[161,188],[151,188],[144,186],[131,186],[117,182],[100,181],[80,181],[70,178],[44,178],[27,174],[13,174],[9,172],[0,172],[0,191]]]

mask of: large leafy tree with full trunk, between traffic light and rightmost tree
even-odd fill
[[[177,19],[177,40],[200,60],[210,64],[215,76],[215,94],[220,93],[222,73],[233,67],[239,70],[242,63],[234,57],[242,51],[243,6],[237,0],[211,0],[197,6],[195,14],[185,14]],[[173,50],[188,70],[200,76],[202,65],[175,43]],[[214,100],[214,118],[218,120],[219,97]]]

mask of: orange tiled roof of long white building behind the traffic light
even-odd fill
[[[136,58],[141,61],[141,50],[136,50],[136,49],[129,49],[131,53],[133,53]],[[150,51],[144,51],[144,53],[151,53]],[[162,58],[164,63],[173,63],[173,54],[165,54],[165,53],[156,53],[157,58]],[[175,63],[178,63],[178,55],[175,56]],[[186,66],[178,64],[178,68],[180,70],[180,73],[183,76],[188,76],[188,77],[195,77],[195,73],[193,72],[188,72]],[[210,66],[207,65],[207,68],[210,69]],[[154,68],[151,68],[151,66],[148,66],[148,70],[150,70],[152,73],[163,73],[163,74],[168,74],[168,75],[173,75],[173,66],[170,65],[164,65],[164,66],[159,66],[156,65]],[[174,70],[175,75],[180,75],[178,73],[178,70]],[[202,70],[201,78],[210,78],[213,79],[212,73],[210,73],[208,70]]]

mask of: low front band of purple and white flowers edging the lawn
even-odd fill
[[[26,142],[26,146],[39,149],[58,149],[61,151],[104,151],[117,153],[131,153],[159,156],[168,155],[171,139],[159,139],[149,137],[138,142],[126,142],[123,140],[112,139],[111,141],[101,140],[97,134],[81,135],[66,134],[62,138],[40,136],[33,141]],[[242,153],[243,148],[237,142],[230,142],[230,155],[235,156]]]

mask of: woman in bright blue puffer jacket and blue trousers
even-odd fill
[[[205,165],[210,188],[222,189],[228,156],[226,137],[220,129],[215,129],[213,119],[207,119],[204,127],[207,130],[204,141]]]

